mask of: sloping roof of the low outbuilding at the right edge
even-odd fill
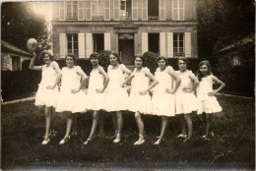
[[[227,52],[231,49],[241,47],[241,46],[246,45],[247,43],[250,43],[250,42],[255,42],[255,37],[253,37],[253,36],[244,37],[244,38],[240,39],[239,41],[236,41],[236,42],[234,42],[234,43],[232,43],[228,46],[225,46],[224,48],[219,50],[217,52],[217,54],[221,54],[221,53]]]

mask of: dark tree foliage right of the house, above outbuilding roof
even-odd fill
[[[214,52],[254,33],[254,0],[198,0],[198,53]]]

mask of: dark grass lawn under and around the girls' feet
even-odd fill
[[[203,116],[193,115],[193,139],[181,142],[178,117],[169,119],[164,141],[156,146],[160,134],[160,117],[143,116],[146,142],[134,146],[138,129],[134,114],[124,112],[122,142],[112,143],[96,137],[83,145],[92,126],[92,112],[78,114],[78,137],[64,145],[58,142],[66,129],[65,117],[54,116],[56,137],[41,145],[44,135],[43,109],[33,101],[2,105],[2,168],[16,169],[241,169],[255,167],[255,109],[254,99],[218,96],[224,111],[213,117],[214,137],[204,134]],[[111,115],[104,113],[105,135],[113,135]]]

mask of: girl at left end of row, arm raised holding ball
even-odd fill
[[[59,65],[55,61],[52,61],[53,56],[50,52],[43,51],[41,53],[41,58],[45,64],[42,66],[34,66],[35,53],[33,53],[30,69],[41,71],[41,82],[35,95],[34,105],[44,106],[46,130],[44,140],[41,144],[47,144],[50,142],[49,137],[52,132],[52,115],[55,112],[54,108],[56,107],[59,92],[57,87],[57,77],[60,76],[60,69]]]

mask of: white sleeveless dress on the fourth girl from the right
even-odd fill
[[[129,110],[132,112],[139,111],[143,114],[151,114],[152,112],[152,101],[149,92],[140,95],[140,92],[144,91],[150,84],[150,79],[145,75],[146,72],[150,72],[150,70],[143,68],[140,72],[137,72],[137,69],[133,72],[135,77],[131,83],[129,96]]]

